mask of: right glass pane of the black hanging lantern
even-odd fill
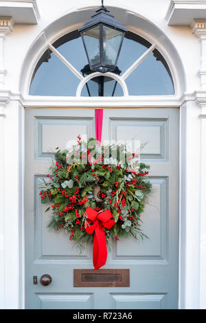
[[[116,66],[123,32],[103,26],[103,61],[106,66]]]

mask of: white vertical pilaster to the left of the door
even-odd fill
[[[0,99],[1,102],[1,99]],[[23,107],[18,100],[10,100],[6,106],[6,118],[0,117],[0,205],[1,241],[3,241],[3,284],[1,291],[4,309],[19,309],[22,298],[20,262],[23,235],[21,219],[23,214]],[[3,123],[3,126],[2,126]],[[11,158],[11,151],[14,159]],[[14,162],[15,160],[15,162]],[[1,174],[3,165],[3,176]],[[12,169],[12,172],[11,172]],[[12,203],[10,202],[10,185],[12,181]],[[9,216],[8,216],[9,214]],[[3,216],[3,219],[2,219]],[[12,225],[10,225],[12,223]],[[9,230],[8,230],[9,228]],[[2,264],[1,264],[2,265]],[[23,267],[21,268],[21,272]],[[2,276],[0,274],[0,280]],[[0,281],[0,284],[2,282]],[[19,294],[21,292],[21,295]]]

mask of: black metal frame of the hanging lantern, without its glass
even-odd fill
[[[93,30],[93,28],[99,27],[99,54],[96,56],[98,59],[98,63],[91,63],[91,58],[89,57],[87,44],[85,43],[84,32],[88,32],[89,30]],[[113,64],[106,63],[106,58],[104,56],[104,27],[108,27],[111,30],[117,30],[122,34],[122,39],[119,42],[119,47],[117,49],[115,62]],[[127,30],[123,27],[122,23],[119,23],[114,19],[114,15],[109,13],[102,1],[102,7],[96,10],[96,14],[91,16],[91,19],[84,23],[84,25],[79,30],[82,36],[82,42],[84,45],[84,50],[87,54],[87,59],[89,62],[89,67],[92,71],[100,71],[102,73],[106,73],[108,71],[114,71],[117,66],[117,60],[119,58],[119,53],[122,48],[122,43],[124,41],[124,35],[126,34]]]

